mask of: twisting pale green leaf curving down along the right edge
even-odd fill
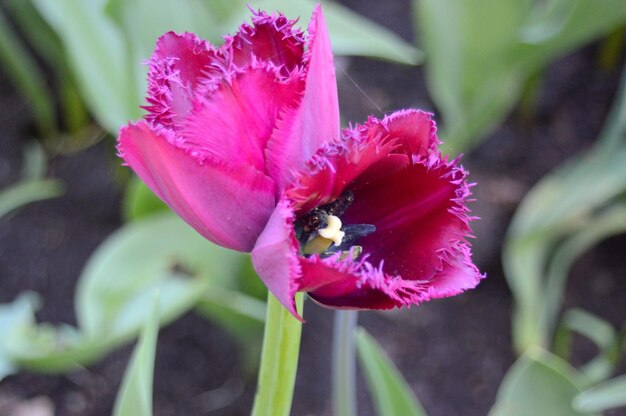
[[[549,344],[573,261],[624,230],[624,205],[618,197],[626,190],[625,85],[622,81],[594,149],[535,185],[509,228],[503,264],[515,297],[513,337],[519,352]]]

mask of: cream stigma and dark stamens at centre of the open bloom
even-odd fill
[[[354,201],[354,193],[346,191],[335,201],[315,208],[295,221],[296,238],[300,244],[300,255],[309,257],[319,254],[329,257],[341,252],[342,258],[353,260],[363,252],[357,245],[359,239],[372,234],[372,224],[343,224],[341,216]]]

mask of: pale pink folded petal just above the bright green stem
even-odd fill
[[[294,300],[295,293],[300,290],[301,271],[293,221],[289,201],[282,200],[252,250],[252,264],[276,299],[302,320]]]

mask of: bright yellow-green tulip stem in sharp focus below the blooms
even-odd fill
[[[297,293],[299,311],[302,311],[302,299],[302,293]],[[268,292],[261,366],[252,416],[289,415],[301,332],[302,324]]]

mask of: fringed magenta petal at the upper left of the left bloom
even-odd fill
[[[161,36],[150,59],[146,119],[176,127],[192,108],[195,90],[206,81],[215,49],[193,33]]]

